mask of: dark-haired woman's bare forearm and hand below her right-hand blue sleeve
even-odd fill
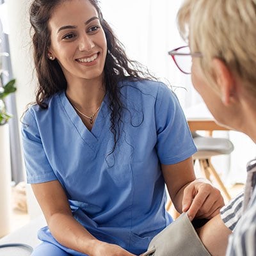
[[[208,180],[196,179],[192,157],[177,164],[162,164],[162,172],[177,211],[188,211],[191,220],[195,216],[211,219],[220,212],[224,205],[220,191]]]

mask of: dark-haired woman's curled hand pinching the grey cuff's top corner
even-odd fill
[[[196,179],[184,189],[182,211],[188,211],[190,220],[196,218],[211,219],[224,205],[220,191],[208,180]]]

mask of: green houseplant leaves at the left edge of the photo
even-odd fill
[[[0,87],[0,125],[6,124],[8,120],[12,117],[12,115],[6,112],[4,98],[8,96],[10,93],[16,91],[16,87],[14,86],[14,84],[15,79],[12,79],[6,85]]]

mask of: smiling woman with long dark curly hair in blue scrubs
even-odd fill
[[[97,1],[35,0],[30,20],[38,90],[22,138],[47,220],[33,255],[140,255],[172,222],[165,184],[178,211],[216,216],[179,101],[127,58]]]

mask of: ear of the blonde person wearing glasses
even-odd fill
[[[218,58],[212,60],[212,68],[220,88],[221,100],[227,106],[236,95],[236,79],[227,65]]]

